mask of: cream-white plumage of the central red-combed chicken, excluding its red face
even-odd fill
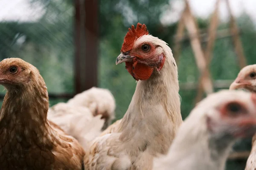
[[[155,56],[165,55],[163,68],[154,71],[149,79],[137,82],[123,119],[110,133],[97,137],[90,150],[86,150],[87,170],[150,170],[153,156],[168,151],[182,122],[172,51],[166,42],[151,35],[138,38],[134,48],[144,42],[157,46]]]

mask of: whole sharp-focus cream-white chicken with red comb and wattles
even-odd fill
[[[148,35],[146,26],[129,28],[116,64],[138,80],[118,131],[97,137],[84,158],[85,169],[152,168],[165,154],[182,122],[177,66],[166,42]]]

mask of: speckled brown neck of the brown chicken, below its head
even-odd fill
[[[26,88],[7,88],[0,111],[1,146],[19,146],[13,152],[19,152],[23,147],[51,147],[47,87],[40,81],[29,83]]]

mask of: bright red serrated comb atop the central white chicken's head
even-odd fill
[[[145,24],[137,23],[136,29],[134,25],[129,28],[129,31],[125,35],[124,43],[121,48],[121,52],[131,51],[134,45],[134,41],[137,40],[137,38],[148,35],[148,28]]]

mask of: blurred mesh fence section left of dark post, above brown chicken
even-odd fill
[[[3,5],[6,8],[0,12],[0,58],[18,57],[35,65],[49,94],[72,94],[73,4],[25,0]],[[12,16],[13,10],[17,15]]]

